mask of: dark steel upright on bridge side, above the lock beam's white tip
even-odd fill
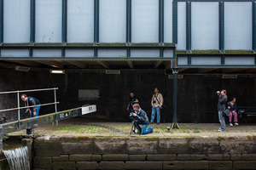
[[[99,43],[99,0],[94,0],[94,43]]]

